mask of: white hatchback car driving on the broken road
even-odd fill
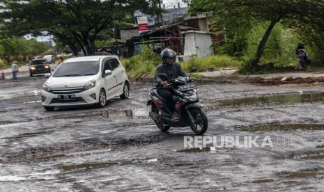
[[[130,82],[117,56],[84,56],[64,61],[43,84],[42,104],[55,107],[98,104],[119,96],[127,99]]]

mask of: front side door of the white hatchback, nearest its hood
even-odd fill
[[[107,95],[107,98],[110,98],[111,95],[114,95],[114,88],[116,88],[117,83],[116,83],[116,78],[114,76],[114,72],[111,69],[109,59],[106,59],[105,61],[103,61],[102,74],[105,74],[105,70],[111,70],[111,73],[112,73],[112,74],[109,74],[109,75],[103,77],[105,79],[106,95]]]

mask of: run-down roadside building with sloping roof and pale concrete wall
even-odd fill
[[[210,56],[214,53],[211,47],[213,42],[224,39],[222,35],[211,33],[210,24],[210,13],[174,18],[163,26],[126,40],[125,49],[128,56],[137,54],[143,44],[157,53],[165,47],[171,48],[184,59],[190,56]]]

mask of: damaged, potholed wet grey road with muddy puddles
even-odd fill
[[[104,109],[46,112],[43,81],[0,81],[0,191],[323,191],[321,85],[199,85],[206,136],[273,141],[212,150],[185,149],[189,127],[157,129],[151,85],[132,85],[130,99]]]

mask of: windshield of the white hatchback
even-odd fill
[[[53,77],[76,77],[98,74],[99,61],[82,61],[62,63]]]

